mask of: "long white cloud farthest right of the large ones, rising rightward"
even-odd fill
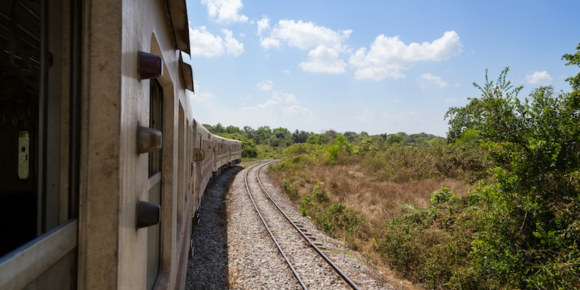
[[[412,42],[405,45],[398,36],[378,35],[369,50],[361,47],[349,59],[356,67],[355,79],[402,79],[400,71],[410,69],[413,62],[449,59],[463,51],[459,36],[455,31],[447,31],[433,42],[421,44]]]

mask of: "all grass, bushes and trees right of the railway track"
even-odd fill
[[[272,174],[320,229],[424,288],[579,289],[580,74],[520,98],[508,72],[448,110],[446,139],[310,134]]]

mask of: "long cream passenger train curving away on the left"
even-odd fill
[[[0,289],[185,288],[242,151],[194,117],[189,32],[185,0],[0,2]]]

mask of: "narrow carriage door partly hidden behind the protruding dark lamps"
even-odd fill
[[[156,79],[149,84],[149,127],[163,133],[163,88]],[[149,202],[161,206],[162,151],[149,152]],[[147,289],[153,289],[160,266],[161,224],[147,228]]]

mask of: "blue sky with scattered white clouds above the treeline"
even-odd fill
[[[507,77],[570,91],[580,1],[187,0],[202,124],[446,137],[451,107]]]

